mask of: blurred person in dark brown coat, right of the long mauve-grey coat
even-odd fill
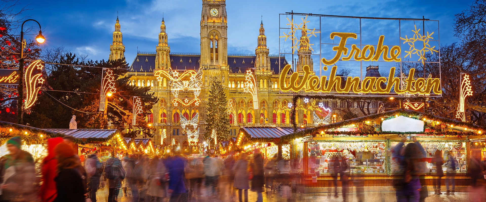
[[[263,175],[263,157],[260,150],[253,151],[253,163],[251,165],[253,179],[251,182],[251,190],[257,192],[257,202],[263,202],[263,185],[265,184],[265,176]]]

